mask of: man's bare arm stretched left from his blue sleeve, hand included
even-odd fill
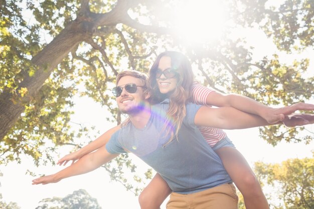
[[[109,162],[119,154],[111,154],[105,146],[100,147],[97,151],[89,153],[76,161],[74,164],[66,167],[59,172],[47,176],[42,176],[33,180],[32,184],[56,183],[64,178],[74,175],[80,175],[90,172]]]

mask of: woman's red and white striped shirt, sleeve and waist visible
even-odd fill
[[[207,96],[214,91],[215,90],[206,88],[195,82],[192,86],[193,103],[198,105],[209,106],[206,104],[206,99]],[[219,128],[199,126],[199,130],[201,131],[205,140],[211,147],[213,147],[218,141],[225,138],[227,135],[222,129]]]

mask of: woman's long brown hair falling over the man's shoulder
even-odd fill
[[[162,57],[170,57],[172,69],[178,73],[177,88],[171,94],[162,94],[156,81],[156,70],[158,69]],[[188,58],[180,52],[166,51],[161,53],[149,70],[148,86],[151,91],[151,101],[153,103],[160,103],[166,98],[170,99],[168,116],[173,120],[176,132],[174,132],[171,126],[165,127],[167,128],[167,133],[171,133],[170,140],[165,145],[169,144],[175,136],[178,140],[178,132],[187,114],[185,105],[192,97],[193,81],[194,74],[192,72],[191,63]],[[167,124],[169,123],[166,123],[166,126]]]

